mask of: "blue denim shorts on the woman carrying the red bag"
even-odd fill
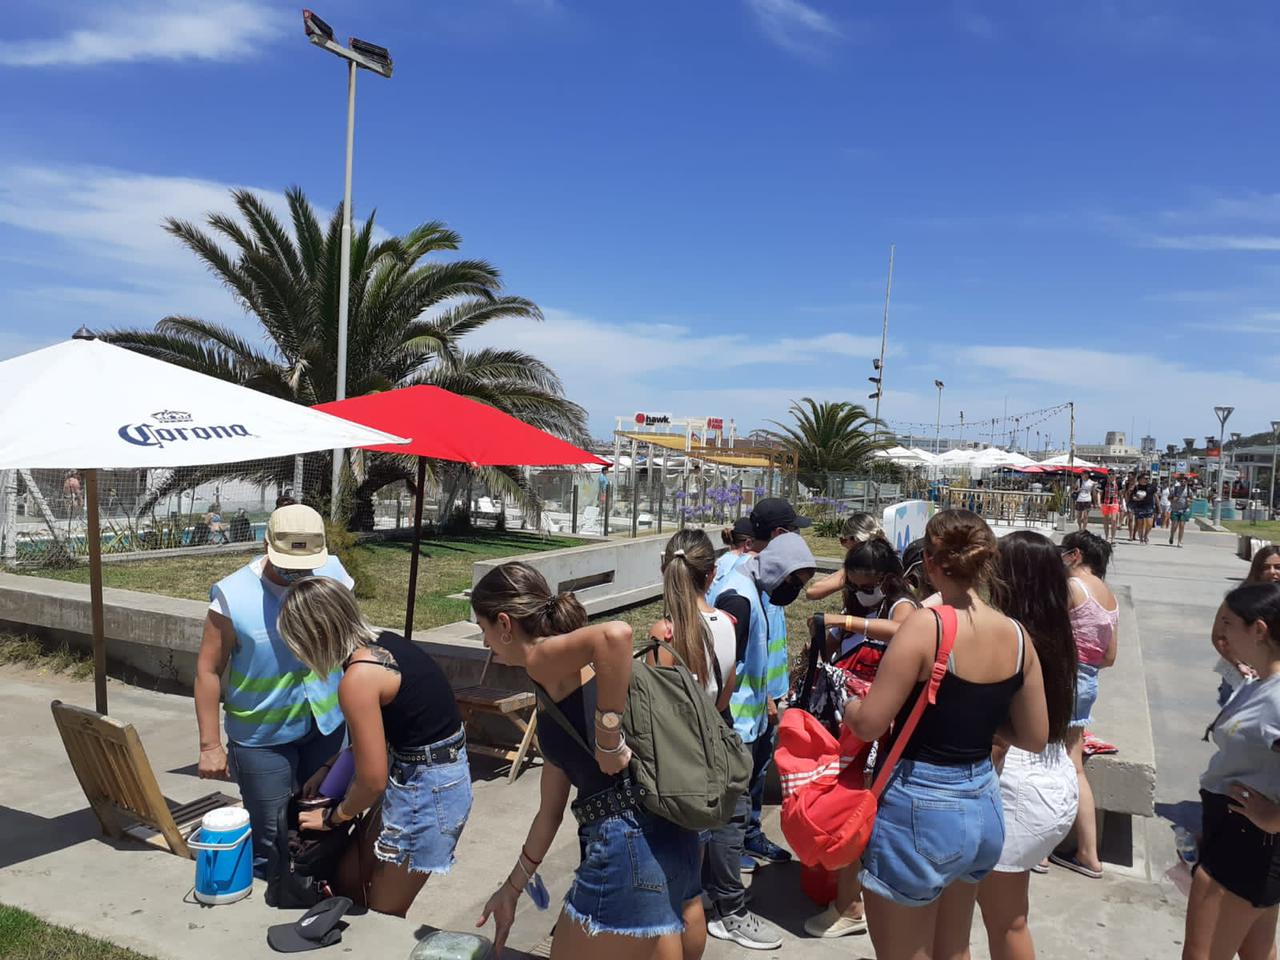
[[[927,906],[955,881],[978,883],[1005,846],[991,760],[943,767],[901,760],[876,814],[859,879],[902,906]]]

